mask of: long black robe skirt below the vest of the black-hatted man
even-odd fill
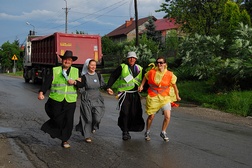
[[[73,130],[75,108],[76,102],[68,103],[65,99],[57,102],[49,98],[45,104],[45,111],[50,119],[42,125],[41,130],[52,138],[69,140]]]

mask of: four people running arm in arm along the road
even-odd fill
[[[118,126],[122,131],[122,139],[129,140],[129,132],[141,132],[145,128],[143,110],[139,92],[148,84],[146,97],[145,140],[150,140],[150,127],[155,114],[161,110],[164,115],[160,136],[164,141],[169,141],[166,129],[171,117],[171,103],[180,101],[179,91],[176,86],[177,77],[167,70],[165,58],[156,59],[156,67],[148,72],[136,64],[138,59],[135,52],[128,52],[127,61],[118,66],[110,75],[107,84],[101,74],[96,73],[96,61],[87,59],[82,72],[72,66],[78,59],[72,51],[67,50],[60,56],[62,65],[53,68],[52,73],[42,84],[38,99],[43,100],[44,94],[50,89],[50,94],[45,103],[45,111],[49,116],[41,130],[52,138],[61,140],[63,148],[69,148],[68,140],[74,127],[74,112],[78,92],[81,94],[80,118],[75,130],[80,131],[87,143],[92,142],[92,133],[99,129],[99,125],[105,112],[104,99],[100,89],[114,95],[111,89],[118,81]],[[174,91],[175,99],[172,99],[170,90]]]

